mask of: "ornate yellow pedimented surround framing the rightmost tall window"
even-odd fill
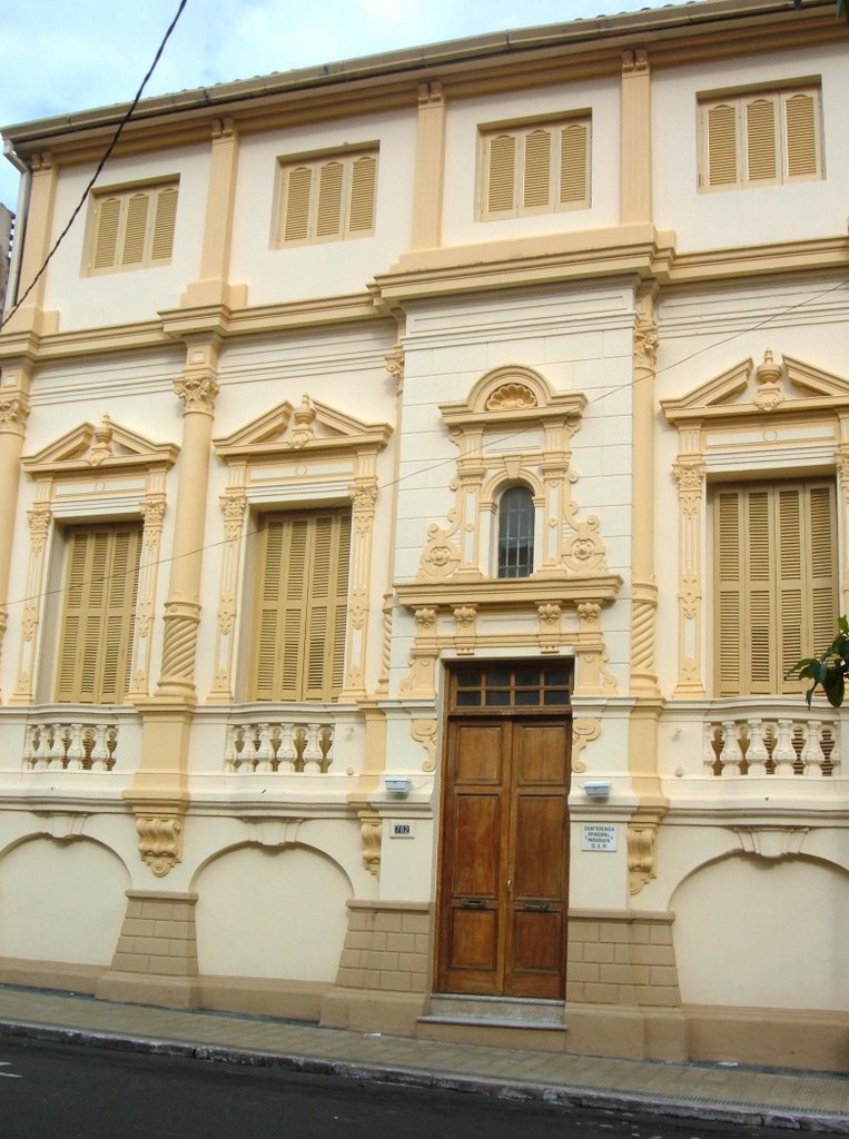
[[[841,611],[849,607],[849,380],[767,350],[680,399],[661,400],[678,429],[678,679],[675,696],[704,699],[709,589],[708,484],[835,473]]]

